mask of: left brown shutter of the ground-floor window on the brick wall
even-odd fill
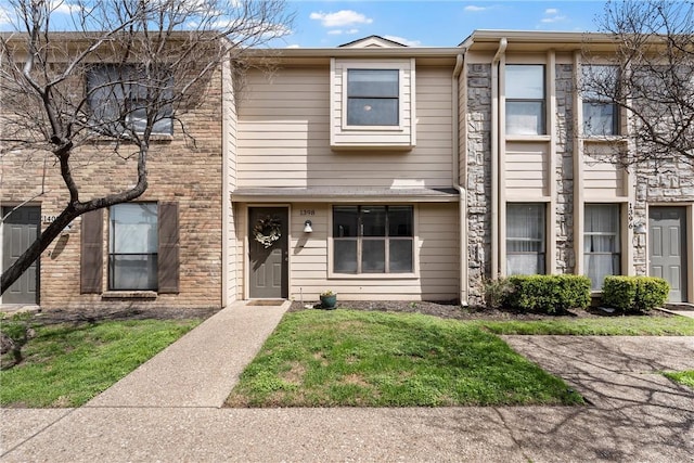
[[[82,216],[80,287],[81,293],[101,293],[104,266],[104,215],[103,209]]]

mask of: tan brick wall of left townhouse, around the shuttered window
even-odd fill
[[[180,267],[179,294],[155,298],[105,299],[99,294],[80,294],[80,223],[72,223],[69,234],[56,239],[40,259],[40,305],[43,308],[77,309],[125,307],[221,307],[221,79],[214,75],[200,104],[181,114],[188,133],[175,124],[174,137],[152,142],[147,160],[149,188],[137,201],[179,204]],[[106,140],[75,150],[72,169],[80,187],[80,198],[102,196],[131,187],[137,180],[134,158],[114,154]],[[133,146],[119,146],[128,155]],[[57,216],[68,200],[50,154],[47,158],[46,193],[41,190],[42,153],[16,151],[2,156],[2,205],[14,206],[35,197],[41,207],[41,228]],[[103,290],[108,281],[108,223],[104,214]]]

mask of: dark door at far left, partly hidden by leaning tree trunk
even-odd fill
[[[12,207],[2,208],[2,217]],[[12,266],[36,240],[40,207],[18,207],[2,222],[2,270]],[[2,304],[38,304],[38,259],[2,295]]]

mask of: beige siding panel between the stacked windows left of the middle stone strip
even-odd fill
[[[506,197],[548,194],[548,143],[506,143],[504,175]]]

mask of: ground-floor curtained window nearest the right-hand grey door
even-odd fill
[[[587,204],[583,230],[584,271],[600,290],[605,276],[620,273],[619,205]]]

